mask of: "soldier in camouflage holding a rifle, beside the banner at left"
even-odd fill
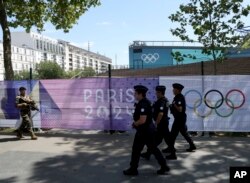
[[[20,87],[19,91],[20,95],[16,97],[16,107],[20,109],[22,123],[17,130],[17,137],[19,139],[24,138],[23,130],[27,128],[30,133],[31,139],[37,140],[37,136],[34,134],[31,125],[32,122],[31,122],[30,104],[34,104],[34,101],[31,100],[30,97],[26,95],[26,88]]]

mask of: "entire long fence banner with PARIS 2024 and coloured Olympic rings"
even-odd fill
[[[185,86],[187,124],[190,131],[250,131],[250,76],[173,76],[157,78],[91,78],[76,80],[0,82],[0,127],[18,127],[15,108],[18,88],[24,86],[40,111],[32,111],[34,127],[130,130],[137,84],[149,88],[165,85],[173,100],[172,84]],[[170,116],[170,128],[173,116]]]

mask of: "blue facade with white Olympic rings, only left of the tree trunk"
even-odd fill
[[[184,58],[180,64],[212,59],[212,56],[202,54],[202,47],[154,46],[147,45],[147,42],[135,41],[129,47],[129,67],[131,69],[143,69],[177,65],[178,62],[172,56],[173,52],[180,52],[186,55],[191,54],[196,57],[196,59]]]

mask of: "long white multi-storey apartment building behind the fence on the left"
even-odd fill
[[[12,65],[14,71],[35,68],[42,61],[54,61],[65,71],[91,67],[105,72],[112,60],[63,40],[38,33],[12,32]],[[0,42],[0,80],[4,79],[3,44]]]

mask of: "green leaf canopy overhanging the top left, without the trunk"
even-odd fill
[[[9,26],[21,26],[28,32],[33,26],[42,31],[46,22],[51,22],[56,29],[67,32],[82,14],[99,4],[99,0],[5,1]]]

